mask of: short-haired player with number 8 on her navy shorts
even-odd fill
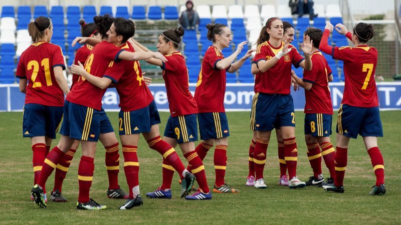
[[[330,142],[333,106],[328,87],[328,82],[333,80],[333,75],[324,55],[318,50],[322,39],[322,30],[308,27],[304,35],[308,35],[313,41],[312,53],[310,54],[313,67],[310,71],[304,71],[302,79],[295,73],[292,76],[305,89],[305,142],[308,148],[309,163],[313,169],[313,176],[309,177],[306,185],[322,186],[324,180],[321,165],[322,156],[330,172],[327,182],[333,182],[335,177],[335,150]],[[321,152],[320,148],[322,149]]]

